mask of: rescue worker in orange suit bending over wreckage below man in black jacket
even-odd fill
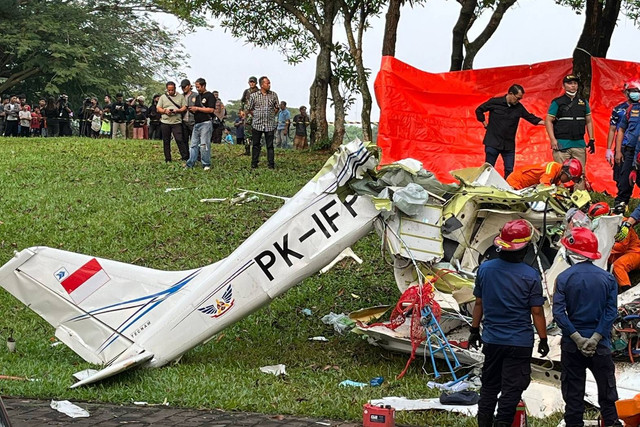
[[[567,159],[562,164],[557,162],[528,165],[513,171],[507,183],[516,190],[532,185],[558,185],[569,181],[577,182],[582,177],[582,164],[578,159]]]

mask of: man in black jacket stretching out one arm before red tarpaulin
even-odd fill
[[[543,125],[544,120],[527,111],[520,103],[524,88],[512,85],[505,96],[491,98],[476,108],[476,118],[487,132],[484,135],[485,162],[495,166],[498,156],[502,156],[505,179],[513,172],[516,157],[516,132],[523,118],[533,125]],[[489,113],[489,121],[485,113]]]

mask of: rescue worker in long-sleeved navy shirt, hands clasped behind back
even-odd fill
[[[562,397],[567,427],[583,426],[586,370],[598,385],[598,404],[605,426],[621,425],[615,401],[615,367],[611,358],[611,328],[618,315],[618,284],[592,261],[600,258],[598,239],[576,227],[562,238],[564,258],[571,266],[556,279],[553,318],[562,329]]]

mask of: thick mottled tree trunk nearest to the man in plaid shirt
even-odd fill
[[[320,45],[316,59],[316,75],[309,90],[310,143],[322,144],[329,141],[327,124],[327,95],[331,79],[331,48]]]

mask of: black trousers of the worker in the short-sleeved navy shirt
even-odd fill
[[[484,364],[478,416],[493,416],[497,403],[498,414],[495,421],[511,425],[522,392],[531,382],[532,350],[532,347],[483,344]]]

